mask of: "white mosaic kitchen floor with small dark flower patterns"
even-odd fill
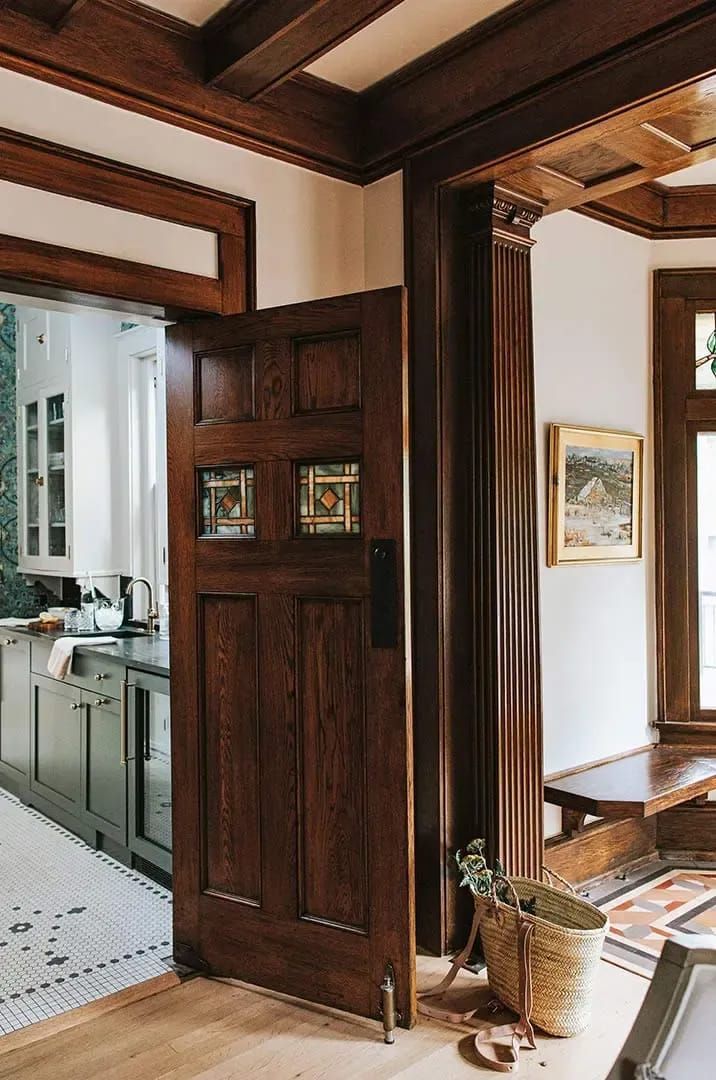
[[[0,789],[0,1035],[164,974],[172,894]]]

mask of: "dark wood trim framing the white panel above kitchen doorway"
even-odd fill
[[[158,314],[232,314],[256,306],[251,200],[0,129],[0,179],[217,234],[218,275],[207,278],[15,237],[0,240],[8,291],[31,283],[65,300],[103,297]]]

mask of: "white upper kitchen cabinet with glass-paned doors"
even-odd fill
[[[19,572],[116,578],[129,477],[116,464],[111,323],[25,308],[16,319]]]

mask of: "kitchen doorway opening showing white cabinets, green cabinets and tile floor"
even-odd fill
[[[178,981],[163,325],[3,293],[0,393],[6,1035]]]

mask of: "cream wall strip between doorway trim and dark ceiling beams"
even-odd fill
[[[260,307],[363,288],[360,187],[4,69],[0,126],[256,200]],[[141,245],[141,222],[126,228]],[[76,235],[76,246],[96,249],[79,220]]]

